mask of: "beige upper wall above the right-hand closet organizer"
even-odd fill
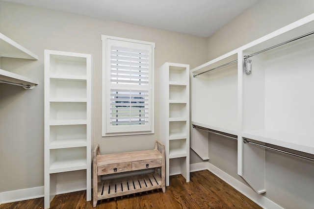
[[[208,38],[208,60],[314,12],[314,0],[260,0]]]

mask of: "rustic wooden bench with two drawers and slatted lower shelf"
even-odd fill
[[[159,149],[158,149],[159,148]],[[101,180],[102,175],[155,168],[152,173]],[[160,168],[160,173],[158,173]],[[99,144],[93,152],[93,206],[97,201],[165,186],[165,146],[156,140],[155,149],[101,155]]]

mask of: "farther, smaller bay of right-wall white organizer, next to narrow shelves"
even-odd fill
[[[237,53],[231,52],[191,70],[191,148],[209,160],[208,132],[236,139]],[[203,130],[202,130],[203,129]]]

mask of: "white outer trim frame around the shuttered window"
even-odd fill
[[[117,41],[125,41],[130,43],[136,43],[136,44],[144,44],[151,46],[151,72],[150,72],[150,78],[149,78],[149,89],[150,89],[150,130],[145,131],[133,131],[133,132],[108,132],[107,129],[107,119],[110,117],[110,113],[107,111],[108,104],[110,103],[110,97],[108,97],[108,92],[110,93],[110,86],[108,87],[106,85],[108,76],[110,77],[110,69],[108,72],[107,64],[110,62],[108,59],[110,56],[107,55],[108,50],[108,40],[117,40]],[[127,136],[127,135],[142,135],[142,134],[154,134],[154,76],[155,76],[155,43],[152,42],[146,42],[146,41],[139,41],[134,39],[127,39],[127,38],[120,38],[120,37],[114,37],[114,36],[107,36],[102,35],[102,136],[108,137],[108,136]],[[123,87],[122,87],[123,88]]]

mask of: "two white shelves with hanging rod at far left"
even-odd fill
[[[25,47],[14,42],[0,33],[0,57],[38,60],[38,56]],[[23,75],[0,69],[0,83],[22,86],[24,89],[33,89],[38,81]]]

